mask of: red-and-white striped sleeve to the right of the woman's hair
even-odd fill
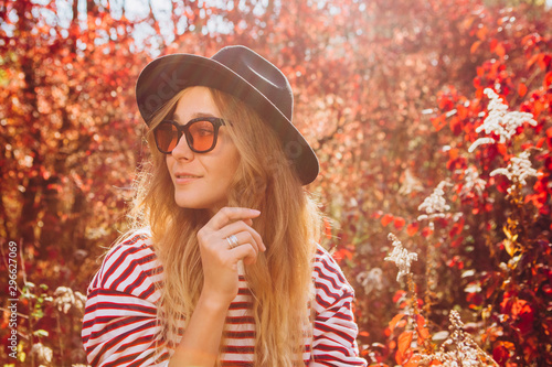
[[[309,367],[367,366],[359,356],[358,326],[351,310],[354,291],[331,256],[318,248],[312,359]]]

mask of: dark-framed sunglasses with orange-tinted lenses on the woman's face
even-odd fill
[[[153,129],[153,137],[157,149],[164,154],[172,153],[182,134],[185,134],[185,141],[192,152],[206,153],[216,145],[219,128],[223,125],[224,120],[217,117],[200,117],[188,121],[187,125],[164,120]]]

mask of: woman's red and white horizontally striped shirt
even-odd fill
[[[367,366],[355,341],[353,290],[321,247],[316,252],[312,278],[314,335],[305,344],[305,364]],[[161,281],[162,266],[147,234],[136,234],[109,250],[88,287],[83,320],[82,337],[92,366],[168,366],[173,349],[157,339],[160,292],[156,283]],[[252,294],[240,276],[240,291],[224,327],[223,366],[253,366],[255,321],[251,307]],[[161,344],[160,354],[156,354],[156,344]]]

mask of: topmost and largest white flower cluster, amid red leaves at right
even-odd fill
[[[528,112],[508,111],[508,105],[505,105],[495,90],[485,89],[485,94],[490,98],[489,115],[485,118],[484,123],[476,129],[479,133],[485,130],[486,134],[495,133],[499,136],[500,143],[510,140],[516,130],[524,122],[537,126],[533,115]],[[479,138],[468,149],[469,152],[476,150],[477,147],[497,142],[493,138]]]

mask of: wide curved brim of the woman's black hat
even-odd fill
[[[231,94],[248,104],[279,136],[304,185],[319,171],[318,159],[291,121],[257,88],[217,61],[192,54],[172,54],[149,63],[136,84],[136,100],[147,125],[178,91],[205,86]]]

